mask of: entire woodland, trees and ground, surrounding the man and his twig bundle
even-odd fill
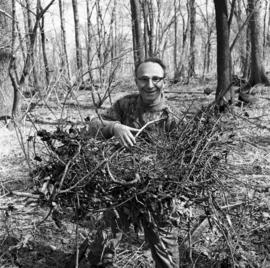
[[[167,66],[179,113],[189,120],[215,104],[229,118],[222,137],[233,138],[224,194],[232,204],[222,204],[232,211],[217,220],[229,235],[183,209],[206,237],[200,228],[205,244],[188,236],[182,266],[269,267],[270,1],[2,0],[0,26],[1,267],[62,267],[78,248],[87,231],[25,206],[44,148],[31,141],[40,129],[85,126],[136,91],[134,65],[152,56]],[[119,267],[148,267],[133,246],[121,248]]]

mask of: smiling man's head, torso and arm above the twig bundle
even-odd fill
[[[164,99],[165,76],[166,67],[158,58],[138,64],[135,81],[139,93],[116,101],[100,118],[91,121],[92,128],[105,138],[115,136],[126,147],[136,143],[134,135],[149,121],[164,118],[162,127],[170,129],[177,118]]]

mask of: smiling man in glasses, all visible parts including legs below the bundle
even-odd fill
[[[135,68],[138,94],[132,94],[116,101],[111,108],[90,122],[92,130],[99,131],[105,138],[116,137],[125,147],[136,143],[135,134],[147,122],[163,119],[158,127],[170,130],[177,117],[164,98],[164,78],[166,68],[157,58],[149,58]],[[132,209],[132,208],[131,208]],[[121,215],[118,218],[112,211],[107,211],[106,224],[101,226],[90,248],[89,260],[92,267],[114,267],[114,248],[121,239]],[[120,219],[119,219],[120,215]],[[179,267],[177,228],[167,222],[153,223],[141,215],[145,239],[149,244],[156,268]],[[111,226],[113,238],[104,239],[102,228]],[[104,240],[107,240],[106,243]],[[99,264],[98,264],[99,263]]]

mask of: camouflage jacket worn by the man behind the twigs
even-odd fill
[[[92,125],[102,127],[102,120],[100,119],[113,124],[119,122],[138,129],[149,121],[164,119],[158,123],[158,126],[165,128],[165,130],[172,129],[179,121],[176,112],[166,102],[164,97],[162,97],[162,101],[158,105],[146,106],[138,93],[124,96],[116,101],[112,107],[100,115],[99,119],[94,118]],[[105,134],[104,136],[108,137],[111,135],[112,133],[108,133],[108,135]]]

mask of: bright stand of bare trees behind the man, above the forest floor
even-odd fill
[[[13,114],[25,91],[46,95],[44,85],[62,78],[109,94],[149,56],[165,61],[174,82],[216,75],[217,92],[230,90],[233,75],[268,83],[269,1],[3,1],[1,14],[2,52],[14,57],[1,102],[14,92]]]

